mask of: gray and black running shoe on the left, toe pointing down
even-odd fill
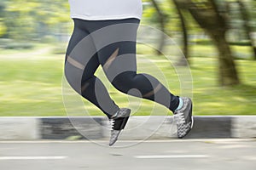
[[[117,114],[115,114],[110,119],[110,121],[112,122],[112,130],[109,140],[109,146],[112,146],[117,141],[121,130],[125,128],[125,125],[130,117],[130,114],[130,109],[120,108]]]

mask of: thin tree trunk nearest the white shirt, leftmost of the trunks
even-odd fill
[[[162,10],[160,9],[159,5],[156,3],[155,0],[151,0],[158,16],[159,16],[159,20],[160,20],[160,30],[162,32],[166,32],[166,16],[165,14],[162,13]],[[160,37],[160,43],[159,43],[159,48],[158,48],[158,51],[157,51],[157,54],[160,55],[161,54],[161,51],[163,50],[163,48],[165,47],[165,34],[161,34],[161,37]]]

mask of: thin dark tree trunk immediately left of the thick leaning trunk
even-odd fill
[[[181,27],[183,30],[183,54],[185,55],[185,59],[182,57],[179,61],[179,65],[188,65],[189,64],[189,42],[188,42],[188,31],[186,26],[186,20],[183,17],[183,13],[181,8],[178,5],[177,0],[172,0],[177,8],[177,14],[181,21]]]

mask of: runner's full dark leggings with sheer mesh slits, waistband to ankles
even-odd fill
[[[119,110],[101,80],[94,75],[102,65],[108,80],[119,91],[153,100],[175,111],[179,104],[177,96],[154,77],[137,74],[136,41],[140,20],[73,20],[65,75],[76,92],[108,117]]]

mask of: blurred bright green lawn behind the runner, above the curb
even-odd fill
[[[138,47],[143,50],[143,47]],[[246,48],[237,49],[247,54]],[[158,77],[172,93],[181,94],[176,70],[163,57],[148,54],[138,56],[138,71]],[[143,53],[141,53],[143,54]],[[242,84],[231,88],[218,87],[216,54],[213,48],[192,48],[191,73],[195,115],[256,115],[256,61],[236,60]],[[63,54],[53,54],[48,46],[33,50],[2,50],[0,54],[0,116],[67,116],[102,115],[88,101],[79,103],[70,94],[67,111],[62,103]],[[207,56],[207,57],[203,57]],[[119,93],[97,71],[111,96],[120,106],[131,107],[134,115],[164,115],[166,108],[145,99]],[[192,92],[191,92],[192,93]],[[154,110],[153,110],[154,109]]]

